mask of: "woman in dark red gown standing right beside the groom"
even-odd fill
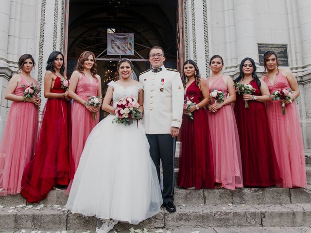
[[[183,188],[214,188],[215,176],[211,139],[204,108],[209,101],[209,90],[200,78],[199,68],[192,60],[183,66],[182,81],[185,100],[188,97],[196,104],[190,111],[184,110],[180,129],[181,155],[179,157],[178,186]],[[193,120],[189,113],[192,113]]]

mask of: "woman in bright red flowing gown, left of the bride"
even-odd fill
[[[22,178],[21,195],[28,202],[45,199],[53,186],[69,184],[70,98],[68,90],[62,87],[66,80],[63,54],[52,52],[46,70],[44,96],[48,100],[35,157]]]

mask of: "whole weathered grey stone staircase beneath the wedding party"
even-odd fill
[[[164,233],[311,233],[311,158],[306,161],[308,187],[304,189],[270,187],[229,191],[176,187],[175,213],[162,209],[139,225],[118,223],[114,230],[125,233],[133,227],[149,229],[149,233],[161,230]],[[65,211],[66,202],[65,190],[61,189],[52,190],[41,203],[26,203],[20,195],[0,197],[0,207],[3,206],[0,208],[0,233],[23,229],[26,233],[95,232],[97,219]],[[28,207],[25,209],[24,205]]]

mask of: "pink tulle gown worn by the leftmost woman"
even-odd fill
[[[30,84],[20,75],[14,95],[23,96]],[[35,153],[38,119],[35,104],[12,103],[0,145],[0,196],[20,193],[24,168]]]

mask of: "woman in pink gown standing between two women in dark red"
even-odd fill
[[[221,73],[223,58],[214,55],[209,62],[212,75],[207,78],[209,92],[225,93],[225,101],[218,103],[211,97],[208,104],[208,124],[211,133],[215,182],[230,190],[243,187],[239,134],[231,103],[236,100],[233,80]],[[228,95],[229,94],[229,95]]]

